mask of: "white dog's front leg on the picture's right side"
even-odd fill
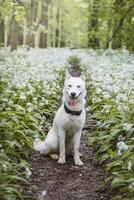
[[[79,146],[80,146],[81,130],[76,132],[74,135],[74,162],[75,165],[83,165],[83,162],[80,160]]]

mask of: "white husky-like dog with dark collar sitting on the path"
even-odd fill
[[[83,165],[79,146],[86,117],[85,95],[84,77],[72,77],[68,74],[63,89],[62,105],[56,113],[45,141],[34,141],[36,151],[57,158],[60,164],[65,163],[66,155],[74,155],[75,165]]]

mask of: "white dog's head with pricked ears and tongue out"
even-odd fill
[[[63,96],[64,100],[71,106],[75,106],[84,99],[86,96],[86,89],[85,77],[83,74],[80,77],[73,77],[70,74],[66,75]]]

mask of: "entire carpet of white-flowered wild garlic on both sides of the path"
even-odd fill
[[[26,160],[33,153],[33,140],[44,138],[52,124],[70,56],[86,67],[87,110],[96,121],[89,142],[104,166],[105,186],[114,200],[134,196],[134,55],[125,50],[50,48],[0,51],[2,199],[23,198],[32,175]]]

